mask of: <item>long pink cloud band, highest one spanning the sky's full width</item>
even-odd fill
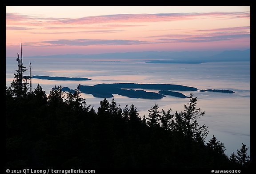
[[[19,21],[20,24],[93,24],[93,23],[125,23],[125,22],[159,22],[186,20],[196,18],[250,18],[250,12],[208,12],[208,13],[158,13],[158,14],[116,14],[88,16],[82,18],[42,18],[18,13],[6,13],[6,23]],[[13,23],[14,24],[14,23]],[[18,24],[18,23],[16,23]]]

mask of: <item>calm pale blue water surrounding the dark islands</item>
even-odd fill
[[[235,93],[193,92],[198,97],[197,106],[205,111],[200,124],[209,128],[208,139],[215,135],[224,143],[225,154],[230,155],[240,149],[242,143],[250,147],[250,62],[206,62],[201,64],[144,64],[125,60],[123,62],[96,62],[84,59],[31,59],[23,60],[29,68],[32,62],[32,75],[88,77],[92,81],[49,81],[32,79],[32,88],[39,83],[48,93],[54,85],[75,89],[81,85],[99,83],[164,83],[196,87],[197,89],[229,89]],[[6,59],[6,85],[13,80],[17,69],[16,58]],[[29,70],[24,75],[29,75]],[[158,92],[157,90],[151,90]],[[189,96],[191,91],[182,92]],[[87,104],[97,108],[102,98],[82,94]],[[131,99],[114,95],[117,104],[124,108],[134,103],[140,116],[147,116],[148,109],[155,103],[160,110],[172,108],[172,113],[184,110],[188,98],[167,96],[160,100]],[[112,99],[109,98],[108,101]],[[248,150],[250,154],[250,148]]]

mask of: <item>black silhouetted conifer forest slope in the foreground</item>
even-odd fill
[[[190,94],[183,112],[160,111],[148,118],[134,104],[120,108],[113,98],[96,110],[75,92],[55,86],[47,96],[38,84],[30,92],[25,78],[6,87],[6,167],[15,168],[247,168],[248,148],[224,154],[224,144],[205,142],[208,127]],[[23,83],[20,83],[20,80]],[[20,85],[21,84],[21,85]],[[215,168],[213,168],[215,167]]]

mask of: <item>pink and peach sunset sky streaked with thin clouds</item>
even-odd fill
[[[245,50],[250,6],[6,6],[6,56]]]

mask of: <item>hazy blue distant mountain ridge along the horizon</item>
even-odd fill
[[[30,56],[27,58],[93,58],[99,60],[168,60],[168,61],[197,61],[197,62],[220,62],[220,61],[250,61],[250,51],[225,50],[225,51],[141,51],[126,53],[104,54],[57,54],[48,56]]]

